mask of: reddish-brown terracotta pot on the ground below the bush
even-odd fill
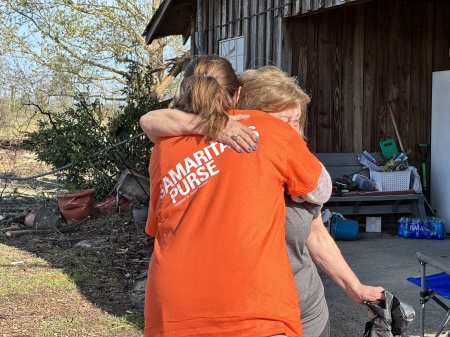
[[[94,189],[58,194],[58,205],[67,222],[77,223],[92,214]]]

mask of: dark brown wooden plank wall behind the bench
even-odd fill
[[[395,134],[418,166],[431,138],[431,76],[450,69],[450,4],[376,0],[287,21],[290,73],[312,96],[314,152],[380,151]],[[450,94],[450,93],[449,93]]]

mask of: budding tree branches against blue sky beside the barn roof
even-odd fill
[[[146,45],[142,32],[160,0],[2,0],[0,53],[18,68],[60,74],[71,85],[95,87],[104,98],[120,95],[127,64],[160,70],[155,88],[179,72],[174,59],[164,64],[163,51],[178,55],[177,37]],[[27,75],[27,74],[26,74]],[[176,75],[175,75],[176,76]]]

